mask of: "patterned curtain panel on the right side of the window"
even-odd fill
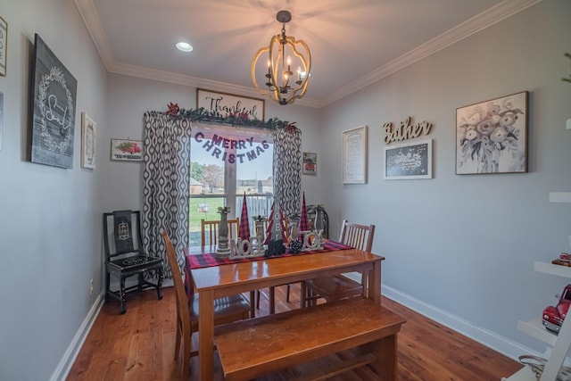
[[[280,128],[274,133],[274,199],[285,216],[299,214],[302,194],[302,131]]]

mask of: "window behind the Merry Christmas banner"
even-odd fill
[[[219,219],[218,207],[240,217],[244,193],[252,217],[269,216],[273,202],[273,141],[268,131],[198,125],[191,142],[190,244],[199,245],[201,219]]]

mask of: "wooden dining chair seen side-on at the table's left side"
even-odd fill
[[[198,351],[192,351],[192,336],[194,332],[198,331],[199,295],[192,294],[190,298],[186,296],[174,245],[165,231],[162,232],[162,239],[167,251],[170,270],[172,271],[172,280],[177,299],[175,360],[178,360],[180,347],[182,345],[182,372],[180,379],[187,381],[190,375],[190,359],[192,356],[198,354]],[[214,325],[248,319],[251,317],[251,311],[250,302],[244,299],[241,294],[216,299],[214,301]],[[214,345],[214,343],[212,343],[212,345]]]

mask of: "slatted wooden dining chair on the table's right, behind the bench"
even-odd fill
[[[375,225],[360,225],[343,219],[339,237],[340,243],[370,253],[373,248],[374,237]],[[304,280],[300,293],[300,305],[301,307],[314,305],[319,298],[325,299],[326,302],[333,302],[353,296],[367,296],[367,288],[363,286],[367,283],[367,275],[366,272],[361,272],[360,282],[343,274]]]

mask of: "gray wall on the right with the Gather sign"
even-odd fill
[[[569,251],[571,204],[571,2],[545,0],[322,110],[323,145],[369,127],[367,185],[341,186],[336,150],[320,156],[331,219],[377,224],[385,294],[502,352],[544,345],[517,331],[555,302],[568,279],[534,261]],[[529,173],[455,175],[457,107],[529,91]],[[385,122],[434,124],[434,178],[384,180]],[[419,137],[417,140],[426,137]]]

